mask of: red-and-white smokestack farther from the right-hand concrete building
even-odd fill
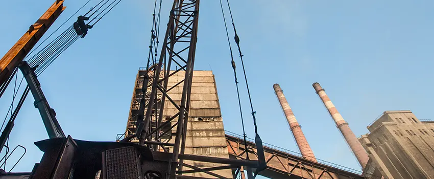
[[[310,149],[309,143],[307,143],[306,137],[304,137],[303,131],[301,130],[300,124],[294,116],[293,110],[290,104],[286,101],[283,95],[282,89],[279,84],[273,84],[274,92],[276,92],[277,98],[279,99],[280,105],[282,106],[283,112],[285,113],[286,120],[290,124],[291,131],[293,132],[295,141],[297,142],[298,148],[300,149],[303,158],[317,162],[314,152]]]

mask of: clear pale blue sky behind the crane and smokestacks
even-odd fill
[[[1,3],[1,56],[53,2]],[[65,1],[66,10],[47,34],[85,2]],[[420,119],[434,118],[433,1],[230,2],[262,141],[298,151],[275,97],[274,83],[282,87],[317,158],[358,170],[312,83],[319,82],[326,89],[356,136],[367,133],[366,126],[385,110],[409,109]],[[59,123],[71,137],[114,141],[117,133],[125,131],[136,73],[148,55],[153,3],[121,2],[39,77]],[[162,29],[171,4],[164,0]],[[213,71],[225,129],[242,133],[220,4],[207,0],[200,7],[195,69]],[[232,39],[231,29],[230,33]],[[240,86],[246,130],[253,138],[245,84]],[[2,116],[12,90],[6,93],[0,99]],[[10,147],[27,148],[14,171],[31,171],[42,156],[33,142],[46,138],[29,96],[9,142]],[[8,160],[8,171],[18,155]]]

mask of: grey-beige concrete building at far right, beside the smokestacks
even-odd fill
[[[409,110],[384,111],[367,128],[359,138],[370,158],[365,173],[434,178],[434,121],[419,120]]]

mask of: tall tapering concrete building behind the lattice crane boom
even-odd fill
[[[142,96],[142,94],[140,94],[140,89],[141,85],[143,84],[145,70],[146,69],[140,69],[136,77],[129,120],[127,123],[126,136],[131,135],[136,130],[136,126],[134,124],[139,107],[139,98]],[[153,76],[153,71],[149,71],[149,76]],[[162,78],[162,76],[160,78]],[[184,71],[180,71],[168,79],[168,88],[171,88],[184,79]],[[148,87],[148,91],[150,93],[150,87]],[[167,92],[167,94],[179,105],[182,94],[182,85],[172,88]],[[162,122],[164,122],[167,118],[173,117],[175,111],[176,108],[171,102],[165,102]],[[172,121],[172,126],[177,122],[177,119],[178,118],[175,118],[175,120]],[[152,119],[152,121],[154,120],[155,119]],[[172,136],[172,133],[176,133],[176,127],[172,129],[163,128],[161,131],[167,131],[163,132],[162,135],[165,136],[165,139],[168,141],[168,143],[174,143],[175,136]],[[138,142],[138,140],[134,139],[132,142]],[[170,152],[173,152],[173,147],[166,147],[166,149]],[[159,150],[162,151],[162,148]],[[229,159],[225,130],[223,127],[222,114],[220,111],[219,97],[217,95],[217,89],[212,71],[194,72],[191,84],[190,109],[184,153]],[[195,167],[219,166],[215,163],[211,164],[206,162],[184,161],[184,163]],[[218,170],[214,171],[214,173],[228,178],[232,177],[231,169]],[[189,173],[185,175],[213,177],[204,172]]]

